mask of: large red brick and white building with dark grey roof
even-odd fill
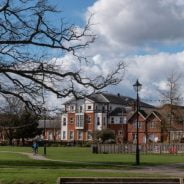
[[[127,141],[127,118],[135,111],[135,102],[130,97],[107,93],[67,101],[61,118],[61,140],[92,141],[95,131],[110,128],[114,130],[117,142]],[[142,102],[140,106],[154,109]]]

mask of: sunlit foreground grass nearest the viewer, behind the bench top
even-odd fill
[[[84,171],[73,169],[1,169],[0,181],[4,184],[56,184],[58,177],[158,177],[144,173]]]

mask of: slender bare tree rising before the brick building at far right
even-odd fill
[[[178,105],[181,104],[181,92],[180,92],[180,81],[181,75],[177,74],[176,72],[172,72],[168,77],[167,77],[167,82],[166,86],[167,89],[165,90],[159,90],[162,101],[165,104],[168,104],[167,107],[165,107],[163,110],[165,112],[162,112],[162,114],[165,114],[165,119],[166,119],[166,125],[163,125],[165,129],[167,129],[167,132],[169,132],[169,143],[171,141],[171,130],[174,127],[173,121],[176,123],[176,116],[178,116],[179,109]]]

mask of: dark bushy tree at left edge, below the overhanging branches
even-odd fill
[[[5,97],[6,98],[6,97]],[[13,139],[18,142],[25,139],[34,138],[42,133],[38,128],[39,116],[34,112],[28,111],[24,103],[16,98],[6,98],[4,108],[1,108],[0,131],[12,145]]]

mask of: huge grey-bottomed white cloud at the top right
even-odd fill
[[[88,8],[104,42],[124,49],[183,41],[183,10],[181,0],[98,0]]]

